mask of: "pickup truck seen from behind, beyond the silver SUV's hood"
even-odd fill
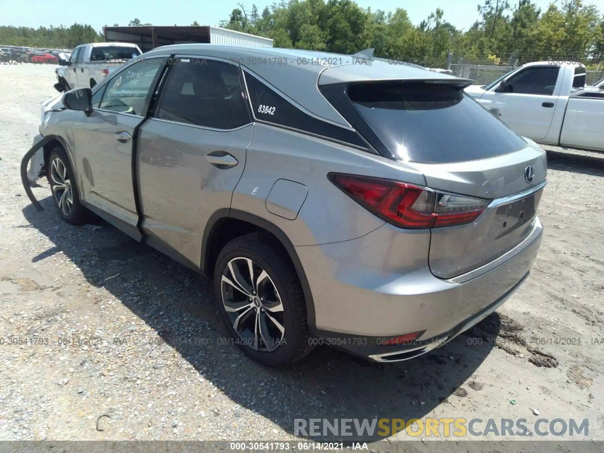
[[[128,42],[94,42],[76,47],[69,60],[56,69],[57,91],[92,88],[119,66],[142,52]]]

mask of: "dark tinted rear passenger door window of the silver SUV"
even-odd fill
[[[250,123],[239,68],[217,60],[176,59],[155,116],[226,130]]]

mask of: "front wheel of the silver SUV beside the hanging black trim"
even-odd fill
[[[48,156],[48,182],[53,193],[54,205],[63,220],[72,225],[86,223],[90,214],[80,203],[76,178],[62,147],[55,147]]]

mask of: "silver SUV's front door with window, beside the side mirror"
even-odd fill
[[[140,234],[132,178],[133,137],[164,65],[165,59],[156,57],[118,72],[106,84],[98,108],[72,126],[86,204],[109,214],[110,222],[119,223],[136,239]]]

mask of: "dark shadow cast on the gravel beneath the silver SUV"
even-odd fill
[[[102,220],[98,221],[100,230],[64,223],[50,196],[41,204],[45,211],[37,213],[28,205],[23,211],[25,218],[56,246],[35,257],[34,262],[53,252],[63,252],[82,269],[91,285],[106,288],[234,403],[261,414],[291,434],[295,434],[296,418],[332,422],[335,418],[360,419],[359,422],[374,418],[409,420],[422,418],[439,403],[444,403],[444,415],[448,416],[449,400],[457,413],[460,407],[461,411],[464,406],[469,410],[467,395],[493,385],[476,379],[477,382],[461,387],[468,379],[473,380],[472,374],[495,343],[492,340],[502,327],[496,313],[473,331],[411,361],[375,364],[335,349],[317,347],[291,367],[262,367],[247,359],[226,338],[228,333],[215,308],[209,280]],[[123,332],[112,334],[129,342],[136,340],[126,327]],[[141,358],[145,355],[141,353]],[[162,366],[153,361],[149,371],[155,373]],[[187,385],[189,379],[191,383],[197,381],[194,375],[185,379],[184,384],[178,385]],[[376,427],[372,436],[343,440],[382,440],[378,431]],[[333,438],[313,437],[329,439]]]

